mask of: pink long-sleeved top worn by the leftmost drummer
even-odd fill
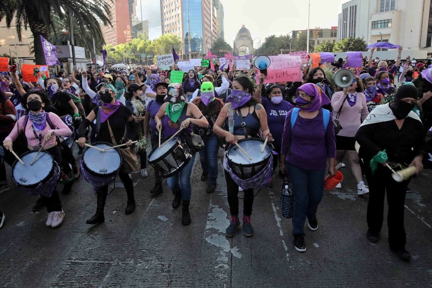
[[[52,122],[52,125],[54,125],[54,127],[57,127],[57,129],[51,129],[51,127],[49,126],[48,122],[47,125],[45,126],[45,128],[42,130],[42,145],[44,145],[44,137],[45,134],[50,132],[50,131],[54,131],[54,135],[57,136],[64,136],[64,137],[68,137],[72,135],[72,131],[69,129],[69,127],[62,121],[62,119],[60,119],[60,117],[58,117],[56,114],[54,114],[53,112],[47,112],[49,116],[49,119]],[[7,140],[12,140],[15,141],[15,139],[18,137],[18,134],[21,133],[23,131],[23,126],[24,126],[24,119],[26,117],[25,116],[21,116],[21,118],[19,118],[18,122],[15,123],[15,126],[13,127],[12,131],[10,132],[10,134],[8,135],[8,137],[6,137],[5,141]],[[26,125],[26,131],[25,131],[25,135],[27,138],[27,144],[29,146],[35,146],[37,145],[37,139],[34,136],[33,133],[33,128],[32,128],[32,124],[30,119],[27,121],[27,125]],[[39,135],[39,132],[36,132],[37,135]],[[5,142],[3,141],[3,142]],[[45,146],[50,146],[53,145],[55,143],[55,137],[51,138],[50,141],[48,141]]]

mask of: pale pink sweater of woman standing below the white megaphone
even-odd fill
[[[345,97],[343,91],[335,92],[332,95],[331,108],[333,108],[333,117],[336,118]],[[348,99],[345,100],[339,116],[342,129],[339,131],[338,136],[354,137],[367,114],[369,114],[369,111],[366,106],[366,96],[363,93],[357,92],[356,104],[352,105],[352,107],[349,106]]]

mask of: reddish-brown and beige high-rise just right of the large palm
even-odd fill
[[[111,25],[102,26],[106,44],[117,45],[131,41],[129,0],[107,1],[111,12]]]

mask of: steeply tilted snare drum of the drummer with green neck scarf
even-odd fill
[[[186,143],[179,137],[174,137],[163,146],[152,150],[148,163],[158,170],[162,177],[168,178],[186,166],[191,158],[192,153]]]

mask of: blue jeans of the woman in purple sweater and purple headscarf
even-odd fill
[[[294,194],[292,234],[304,235],[306,217],[317,219],[318,205],[323,198],[326,169],[305,170],[286,163]]]

